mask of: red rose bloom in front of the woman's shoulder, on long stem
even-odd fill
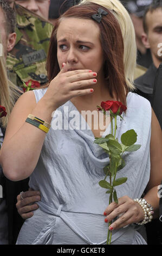
[[[108,111],[111,109],[111,111],[116,114],[118,112],[118,109],[120,107],[120,115],[122,112],[126,111],[127,107],[125,105],[122,105],[120,101],[113,101],[113,100],[107,100],[107,101],[102,101],[101,102],[101,107],[105,110]]]

